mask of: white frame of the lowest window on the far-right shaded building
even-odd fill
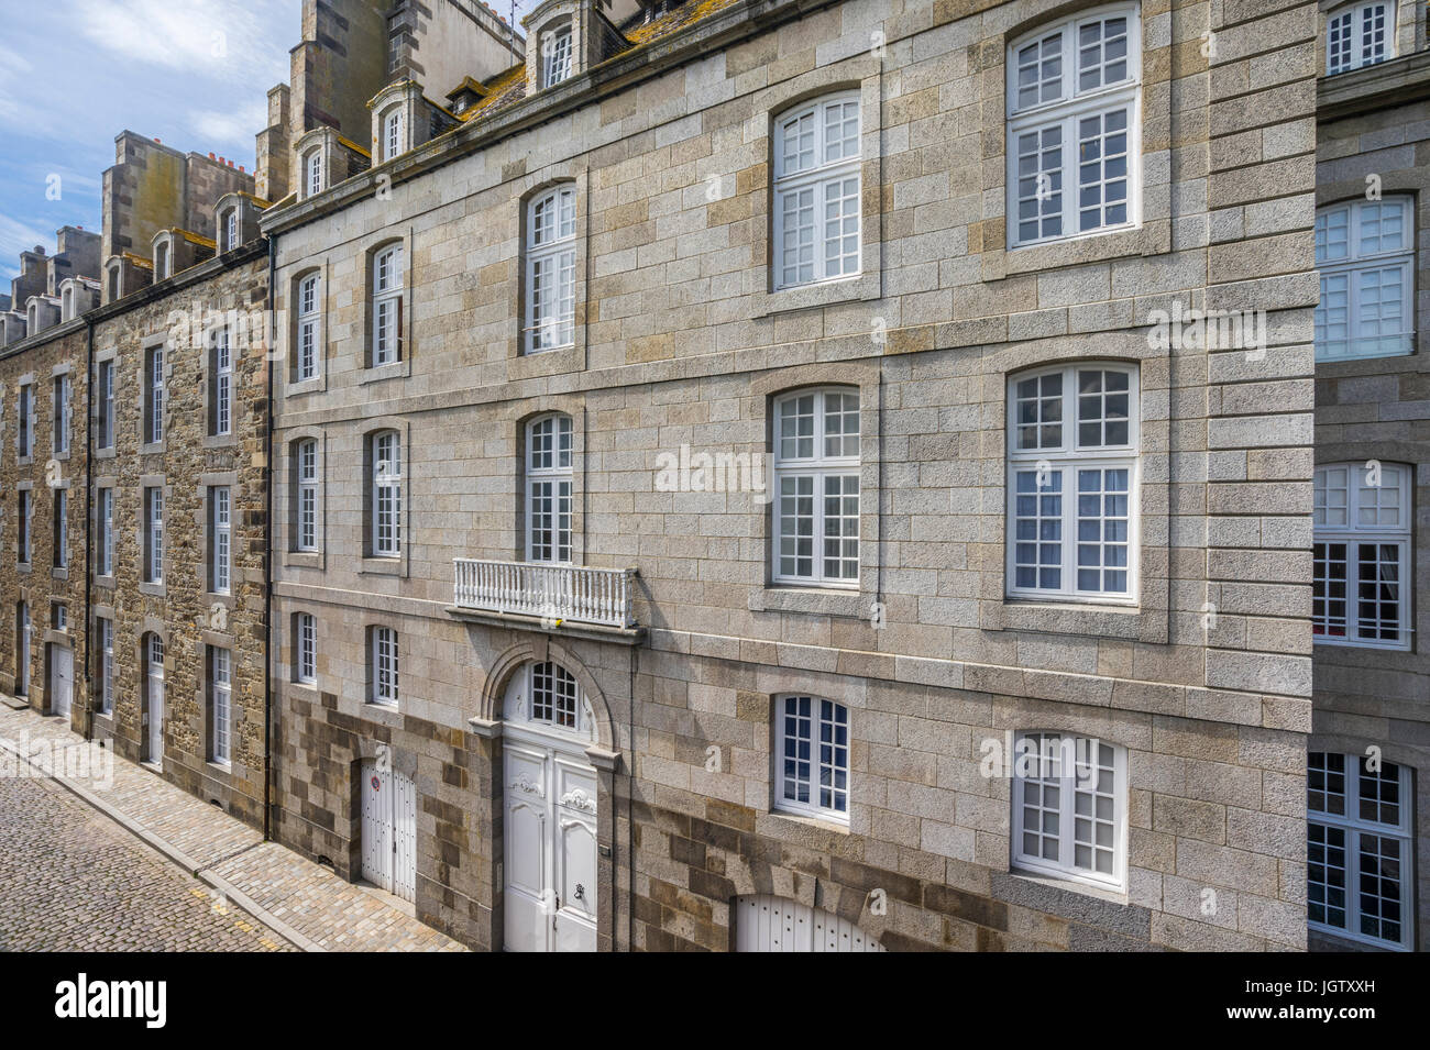
[[[1320,930],[1336,937],[1343,937],[1347,940],[1354,940],[1361,944],[1376,944],[1383,949],[1393,949],[1397,951],[1410,951],[1414,949],[1416,937],[1416,834],[1411,824],[1411,813],[1414,810],[1414,783],[1411,780],[1410,767],[1401,763],[1384,763],[1381,766],[1383,773],[1389,773],[1390,766],[1397,770],[1396,786],[1399,799],[1399,821],[1394,824],[1381,823],[1379,820],[1367,819],[1361,816],[1361,763],[1363,756],[1356,754],[1341,754],[1340,751],[1310,751],[1307,756],[1307,804],[1306,804],[1306,823],[1307,823],[1307,927],[1311,930]],[[1338,757],[1343,763],[1341,770],[1334,770],[1330,759]],[[1347,813],[1330,813],[1324,807],[1324,803],[1336,794],[1331,791],[1334,776],[1343,776],[1341,783],[1346,800]],[[1317,787],[1318,784],[1318,787]],[[1377,809],[1380,804],[1374,797],[1370,799],[1371,804]],[[1338,831],[1344,843],[1344,879],[1346,884],[1341,887],[1344,890],[1343,906],[1346,910],[1346,926],[1334,926],[1328,921],[1318,921],[1311,919],[1311,910],[1317,903],[1311,897],[1314,896],[1314,884],[1311,876],[1316,869],[1320,867],[1314,860],[1314,850],[1318,844],[1314,836],[1316,829],[1326,836],[1328,846],[1328,839],[1333,831]],[[1361,916],[1361,839],[1363,836],[1377,836],[1380,839],[1393,839],[1400,843],[1400,939],[1390,940],[1384,937],[1377,937],[1374,934],[1361,933],[1358,926],[1363,919]],[[1326,857],[1328,864],[1330,857]],[[1327,883],[1321,883],[1327,884]],[[1351,919],[1356,919],[1356,930],[1348,929]]]

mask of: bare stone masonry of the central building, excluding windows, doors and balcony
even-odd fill
[[[270,216],[305,220],[279,234],[279,306],[319,266],[327,319],[322,383],[276,390],[280,544],[283,450],[320,437],[325,464],[323,553],[275,577],[276,623],[313,611],[320,637],[317,690],[285,687],[289,840],[356,856],[343,777],[390,741],[416,771],[419,914],[499,943],[500,740],[463,730],[492,716],[513,647],[545,643],[445,606],[452,559],[518,557],[522,423],[562,410],[575,561],[638,566],[651,626],[636,650],[551,639],[623,756],[602,776],[601,864],[618,880],[602,944],[725,949],[731,897],[772,891],[891,947],[1304,946],[1314,6],[1143,4],[1143,229],[1010,253],[1004,54],[1041,14],[831,4],[425,177],[399,163],[390,200]],[[871,276],[792,310],[765,291],[769,120],[835,86],[865,99]],[[522,204],[553,179],[578,191],[579,334],[526,359]],[[395,237],[415,326],[409,360],[376,377],[365,267]],[[1267,353],[1154,349],[1150,316],[1174,301],[1266,310]],[[1130,614],[1002,597],[1005,377],[1080,357],[1141,370]],[[789,596],[765,586],[765,506],[656,491],[656,457],[761,451],[769,396],[829,381],[862,394],[859,590]],[[360,450],[385,426],[409,451],[408,556],[375,574]],[[372,623],[403,639],[398,716],[363,703]],[[801,690],[852,710],[848,831],[771,811],[771,699]],[[978,774],[980,744],[1030,729],[1128,749],[1125,900],[1010,873],[1008,781]],[[721,773],[705,771],[712,746]],[[871,887],[888,916],[868,911]]]

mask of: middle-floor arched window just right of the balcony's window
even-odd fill
[[[859,391],[801,390],[775,401],[776,583],[859,580]]]

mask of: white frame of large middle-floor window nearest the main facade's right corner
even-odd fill
[[[1080,427],[1083,421],[1078,416],[1078,377],[1084,371],[1101,371],[1101,373],[1118,373],[1127,376],[1127,441],[1115,444],[1097,444],[1084,446],[1080,441]],[[1058,444],[1050,444],[1047,447],[1037,449],[1020,449],[1021,436],[1020,430],[1027,424],[1020,426],[1020,397],[1018,386],[1021,383],[1035,380],[1038,381],[1038,390],[1041,391],[1041,380],[1044,376],[1061,374],[1062,390],[1057,396],[1060,404],[1060,419],[1055,424],[1060,429]],[[1105,389],[1100,394],[1088,394],[1090,397],[1101,399],[1101,410],[1105,411],[1105,397],[1115,396],[1121,391],[1107,391]],[[1022,399],[1027,400],[1027,399]],[[1045,400],[1052,400],[1045,399]],[[1040,416],[1041,419],[1041,416]],[[1117,417],[1111,420],[1100,417],[1098,420],[1087,420],[1088,423],[1105,423],[1117,421]],[[1048,426],[1051,426],[1050,423]],[[1007,386],[1007,447],[1008,447],[1008,470],[1007,470],[1007,503],[1004,507],[1004,580],[1005,593],[1008,597],[1030,597],[1030,599],[1045,599],[1058,601],[1078,601],[1078,603],[1093,603],[1093,604],[1118,604],[1118,606],[1133,606],[1137,604],[1140,591],[1140,551],[1141,551],[1141,486],[1140,486],[1140,429],[1141,429],[1141,387],[1140,387],[1140,373],[1137,366],[1127,364],[1121,361],[1072,361],[1070,364],[1057,364],[1045,369],[1032,369],[1028,371],[1014,373],[1008,377]],[[1041,441],[1041,434],[1040,434]],[[1107,591],[1107,590],[1085,590],[1078,584],[1078,523],[1083,520],[1078,507],[1078,471],[1080,470],[1127,470],[1127,591]],[[1027,586],[1018,583],[1018,567],[1025,564],[1048,564],[1041,560],[1034,563],[1025,563],[1020,559],[1020,537],[1018,537],[1018,521],[1020,521],[1020,504],[1018,497],[1028,497],[1030,493],[1018,491],[1020,474],[1032,473],[1034,483],[1037,484],[1040,479],[1044,484],[1051,486],[1054,480],[1058,481],[1060,487],[1055,493],[1061,500],[1061,513],[1058,514],[1060,529],[1058,540],[1060,547],[1060,586],[1045,587],[1045,586]],[[1103,491],[1103,490],[1098,490]],[[1035,510],[1038,511],[1037,521],[1038,531],[1041,533],[1041,523],[1044,520],[1044,506],[1042,500],[1054,493],[1050,489],[1038,489],[1038,491],[1031,496],[1037,500]],[[1114,494],[1115,493],[1103,493]],[[1103,513],[1098,516],[1100,521],[1108,521],[1105,514],[1105,501],[1103,504]],[[1024,516],[1025,517],[1025,516]],[[1117,520],[1113,517],[1111,520]],[[1105,544],[1104,539],[1098,544]],[[1048,540],[1021,540],[1025,546],[1028,543],[1035,543],[1040,550],[1035,551],[1035,557],[1041,559],[1041,546],[1044,543],[1052,543]],[[1117,544],[1113,540],[1114,546]],[[1098,564],[1097,569],[1111,569],[1113,571],[1120,571],[1123,566],[1103,566]]]

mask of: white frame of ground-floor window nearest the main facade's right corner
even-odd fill
[[[1097,751],[1093,751],[1094,747]],[[1104,756],[1103,749],[1108,749],[1111,754]],[[1097,777],[1091,776],[1088,759],[1097,760]],[[1111,761],[1105,764],[1108,759]],[[1074,733],[1020,731],[1014,743],[1011,764],[1012,834],[1010,844],[1012,867],[1085,886],[1125,891],[1127,749]],[[1103,783],[1104,773],[1111,779],[1110,786]],[[1044,790],[1040,791],[1037,786]],[[1107,790],[1108,787],[1110,790]],[[1034,791],[1030,793],[1028,789],[1034,789]],[[1057,790],[1054,800],[1048,799],[1045,793],[1048,789]],[[1093,799],[1085,814],[1078,811],[1078,796],[1091,796]],[[1108,799],[1110,816],[1100,810],[1098,799]],[[1050,801],[1057,803],[1055,809],[1047,804]],[[1048,821],[1051,827],[1048,824],[1041,824],[1037,829],[1027,826],[1030,803],[1044,817],[1048,814],[1054,817]],[[1088,826],[1090,814],[1094,819],[1093,826]],[[1110,843],[1097,841],[1097,824],[1111,826]],[[1027,850],[1025,834],[1037,837],[1040,846],[1037,856]],[[1041,854],[1044,839],[1055,841],[1057,857]],[[1093,860],[1093,850],[1111,851],[1111,871],[1098,871],[1095,863],[1080,864],[1078,849],[1090,851],[1088,861]]]

